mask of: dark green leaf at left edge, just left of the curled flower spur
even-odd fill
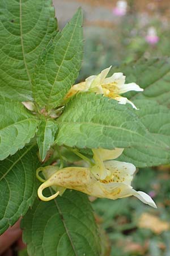
[[[24,147],[0,161],[0,233],[23,216],[36,197],[37,148]]]

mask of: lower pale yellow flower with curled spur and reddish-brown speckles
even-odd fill
[[[118,150],[121,151],[122,149]],[[118,150],[114,150],[114,158],[117,157],[116,154],[120,154]],[[102,151],[102,149],[100,151]],[[105,153],[107,153],[106,150]],[[108,153],[110,155],[103,155],[103,159],[108,159],[108,157],[111,159],[113,152],[108,151]],[[96,156],[94,156],[94,159],[97,160]],[[133,164],[118,162],[116,160],[104,161],[103,164],[104,172],[107,170],[107,175],[104,175],[104,179],[100,178],[100,174],[103,176],[103,172],[100,170],[98,173],[99,176],[97,176],[96,170],[94,171],[92,169],[93,167],[67,167],[57,170],[48,180],[40,185],[38,189],[39,198],[44,201],[54,199],[59,195],[59,190],[50,197],[42,195],[42,191],[47,187],[55,186],[59,188],[75,189],[87,195],[101,198],[105,197],[113,200],[134,195],[143,203],[156,208],[150,196],[142,191],[135,191],[133,187],[131,187],[131,180],[136,170]]]

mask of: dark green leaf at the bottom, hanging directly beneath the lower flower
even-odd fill
[[[99,256],[100,243],[88,197],[67,190],[49,202],[37,200],[22,221],[28,254]]]

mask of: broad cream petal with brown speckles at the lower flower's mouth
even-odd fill
[[[111,160],[104,162],[104,166],[111,173],[108,180],[112,179],[112,182],[114,183],[131,184],[133,174],[136,170],[136,167],[133,164]]]

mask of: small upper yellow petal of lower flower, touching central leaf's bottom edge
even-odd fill
[[[124,148],[114,148],[114,150],[99,148],[98,150],[100,152],[101,159],[105,161],[105,160],[113,160],[118,158],[118,156],[120,156],[124,151]]]

